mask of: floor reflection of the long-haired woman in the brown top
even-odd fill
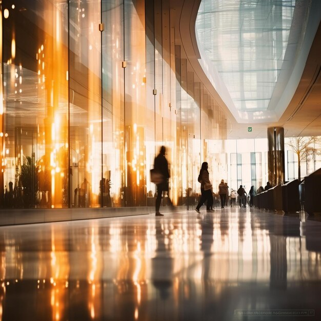
[[[211,248],[213,244],[213,217],[211,214],[205,215],[204,219],[200,222],[200,228],[202,234],[200,234],[200,250],[203,252],[203,269],[202,278],[203,280],[208,280],[210,272],[210,262],[211,262]]]

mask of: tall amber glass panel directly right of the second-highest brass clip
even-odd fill
[[[146,206],[146,54],[144,1],[125,1],[125,205]]]

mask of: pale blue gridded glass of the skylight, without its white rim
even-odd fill
[[[195,26],[198,46],[211,61],[216,77],[223,81],[236,110],[259,112],[271,109],[271,101],[277,105],[279,99],[272,98],[282,95],[283,90],[275,90],[280,73],[285,68],[293,69],[295,52],[305,33],[308,9],[300,14],[295,31],[292,23],[295,3],[295,0],[201,2]],[[284,64],[289,36],[295,47]]]

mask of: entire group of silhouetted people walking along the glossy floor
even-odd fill
[[[168,162],[165,157],[166,148],[162,146],[160,148],[159,154],[155,157],[154,160],[154,169],[153,172],[157,172],[159,177],[157,181],[155,180],[154,183],[157,186],[157,196],[155,202],[155,215],[156,216],[163,216],[159,212],[160,203],[162,200],[162,194],[165,191],[168,191],[168,179],[170,177],[170,173],[168,170]],[[208,171],[208,163],[204,162],[200,168],[199,175],[198,175],[198,182],[200,183],[200,199],[195,208],[197,213],[200,213],[200,207],[206,203],[206,211],[213,212],[214,211],[214,202],[213,202],[213,186],[209,178],[209,171]],[[152,179],[153,182],[153,179]],[[269,185],[269,182],[266,186],[267,189],[272,187]],[[223,209],[227,205],[227,197],[229,195],[229,186],[224,179],[220,181],[218,185],[218,194],[220,197],[220,207]],[[238,190],[232,190],[231,192],[231,206],[235,203],[236,196],[238,195],[238,202],[239,207],[246,207],[247,199],[249,196],[249,206],[253,207],[253,197],[256,195],[254,191],[254,186],[251,186],[249,194],[245,191],[243,185],[240,185]],[[168,197],[169,203],[172,206],[171,199]]]

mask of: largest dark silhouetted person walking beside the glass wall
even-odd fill
[[[157,186],[157,196],[155,201],[155,215],[164,216],[164,214],[159,213],[160,202],[162,201],[162,194],[165,191],[168,191],[168,179],[170,177],[168,170],[168,162],[165,157],[166,148],[165,146],[160,147],[159,154],[155,157],[154,160],[154,170],[160,174],[160,182],[156,184]],[[168,200],[171,206],[172,201],[168,196]]]

